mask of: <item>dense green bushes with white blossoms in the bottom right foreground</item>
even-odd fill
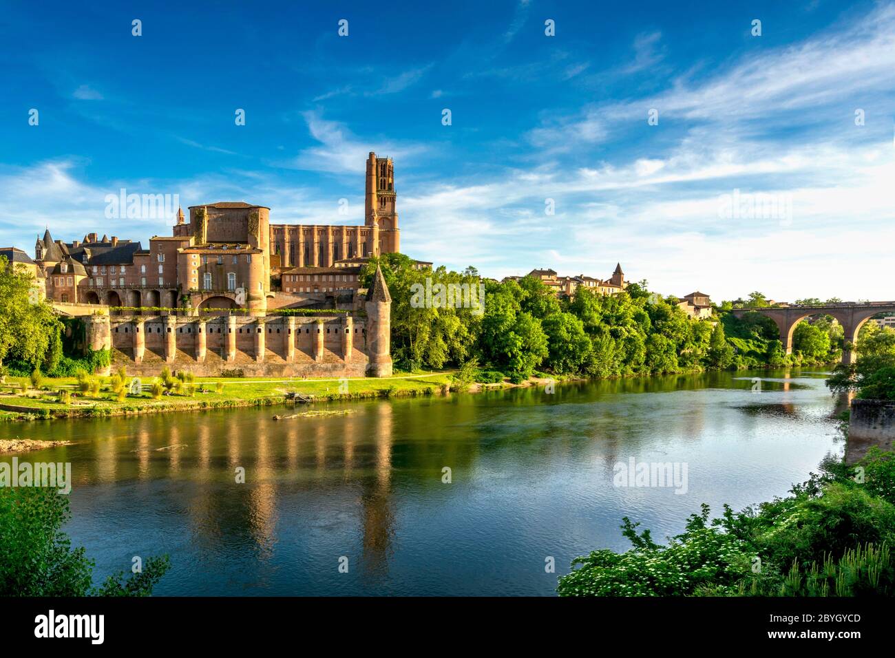
[[[560,596],[895,595],[895,454],[878,449],[856,478],[839,461],[786,498],[689,517],[667,545],[623,520],[630,551],[573,560]]]

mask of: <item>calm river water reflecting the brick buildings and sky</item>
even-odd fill
[[[168,553],[157,595],[551,595],[575,556],[628,547],[621,517],[664,539],[703,502],[720,513],[785,495],[840,455],[823,377],[704,373],[333,403],[313,408],[351,413],[281,421],[292,412],[267,407],[0,432],[73,441],[20,459],[72,463],[66,530],[97,577]],[[677,483],[617,486],[614,466],[632,458],[678,465]]]

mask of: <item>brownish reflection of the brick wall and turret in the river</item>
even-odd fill
[[[131,440],[130,449],[111,437],[95,443],[96,459],[81,471],[81,483],[165,483],[162,507],[190,518],[192,541],[207,547],[200,552],[209,560],[241,544],[259,560],[272,557],[280,517],[288,516],[279,506],[292,492],[316,500],[334,487],[354,491],[348,505],[356,529],[349,534],[362,554],[349,555],[351,564],[365,577],[385,574],[395,525],[392,406],[289,423],[262,413],[229,423],[202,415],[176,424],[141,418],[120,437]],[[244,483],[236,482],[239,469]]]

